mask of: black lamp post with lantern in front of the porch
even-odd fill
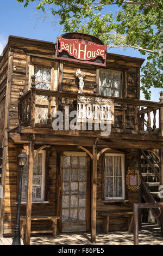
[[[14,234],[14,238],[13,238],[13,241],[12,241],[12,245],[21,245],[21,239],[20,239],[20,210],[21,210],[22,176],[23,176],[23,166],[24,166],[24,164],[26,164],[27,156],[26,156],[26,154],[19,154],[17,158],[18,158],[18,164],[20,166],[20,180],[19,180],[19,184],[18,184],[15,234]]]

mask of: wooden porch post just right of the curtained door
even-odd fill
[[[91,242],[96,242],[97,147],[93,145],[91,175]]]

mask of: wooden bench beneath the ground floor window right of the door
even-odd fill
[[[97,212],[98,215],[102,215],[103,217],[103,233],[108,234],[109,232],[109,217],[111,216],[122,216],[130,218],[130,223],[128,224],[128,230],[131,231],[132,219],[133,219],[133,212]]]

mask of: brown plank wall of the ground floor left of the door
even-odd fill
[[[12,141],[8,143],[8,164],[5,182],[4,199],[4,225],[3,235],[14,235],[17,210],[18,177],[20,168],[17,163],[17,156],[22,151],[17,148]],[[44,202],[32,203],[32,214],[41,216],[55,215],[56,204],[56,169],[57,152],[54,148],[46,151],[46,170],[45,170],[45,195]],[[21,204],[21,215],[26,216],[26,203]],[[52,222],[32,222],[32,230],[40,230],[40,227],[46,230],[52,229]]]

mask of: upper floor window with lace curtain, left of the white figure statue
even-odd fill
[[[36,88],[51,90],[51,68],[34,67]]]

